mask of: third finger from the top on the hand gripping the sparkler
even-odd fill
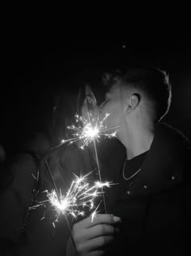
[[[89,241],[80,243],[77,245],[77,249],[79,252],[87,252],[96,249],[103,249],[109,243],[114,240],[114,236],[99,236]]]

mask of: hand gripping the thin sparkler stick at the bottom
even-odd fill
[[[100,256],[113,241],[118,228],[114,224],[121,219],[113,215],[96,215],[93,222],[91,216],[75,223],[72,234],[80,256]],[[67,255],[70,255],[67,254]]]

